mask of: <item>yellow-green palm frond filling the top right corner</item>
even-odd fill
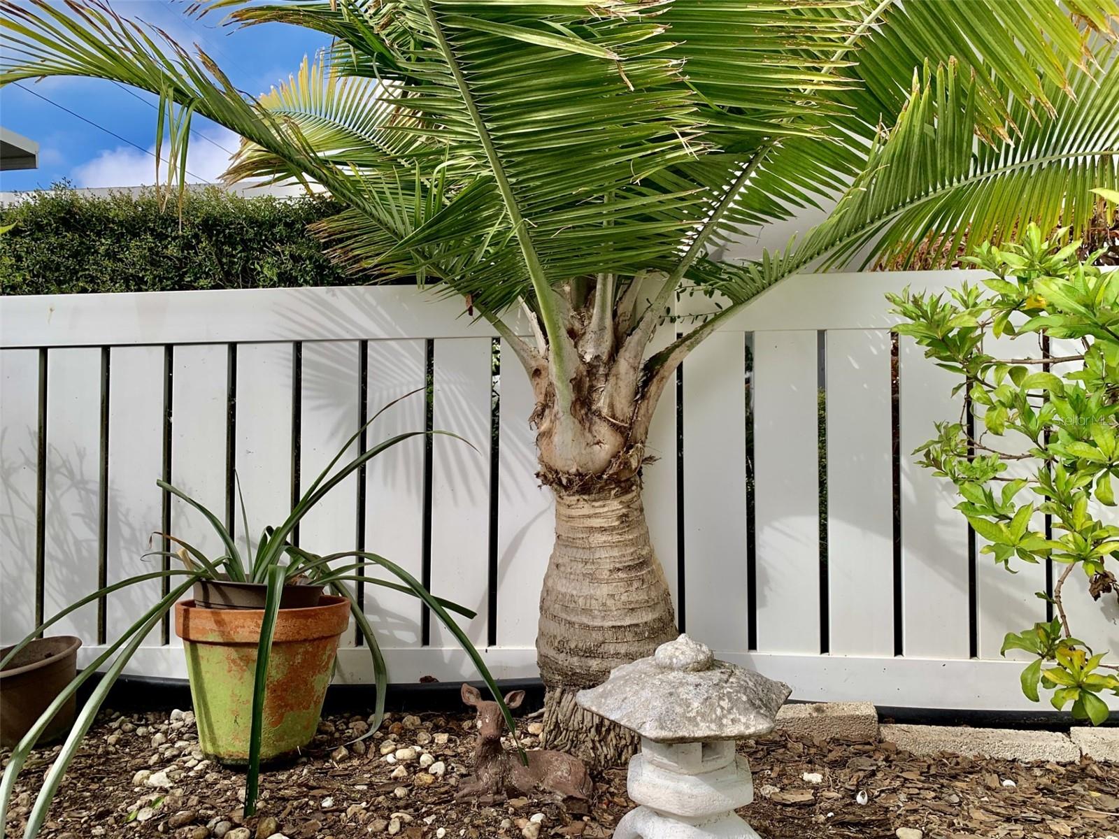
[[[802,12],[831,17],[822,8]],[[868,149],[901,116],[914,74],[955,64],[971,78],[976,133],[998,143],[1052,116],[1078,79],[1099,67],[1087,37],[1109,32],[1119,16],[1115,0],[1073,0],[1064,9],[1050,0],[865,0],[844,15],[865,26],[836,72],[848,82],[821,91],[838,116],[814,136],[779,138],[742,190],[714,237],[734,237],[772,220],[791,218],[806,207],[825,207],[850,186],[866,163]],[[932,79],[935,83],[935,78]]]

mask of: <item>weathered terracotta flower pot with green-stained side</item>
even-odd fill
[[[187,654],[190,695],[203,753],[228,764],[248,762],[253,678],[264,610],[175,605],[175,631]],[[323,595],[318,606],[282,609],[276,620],[264,695],[261,760],[302,748],[314,736],[349,601]]]

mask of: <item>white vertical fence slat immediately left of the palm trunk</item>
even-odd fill
[[[540,590],[555,537],[552,490],[536,478],[536,406],[532,385],[509,345],[501,342],[500,464],[498,468],[497,642],[536,642]]]

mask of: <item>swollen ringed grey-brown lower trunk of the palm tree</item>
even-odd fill
[[[575,694],[676,638],[673,600],[652,553],[639,483],[556,492],[556,541],[540,592],[537,662],[547,688],[544,743],[587,765],[619,765],[630,732],[584,711]]]

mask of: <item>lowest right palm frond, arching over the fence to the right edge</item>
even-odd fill
[[[1052,117],[1027,119],[1029,103],[1012,101],[1019,136],[995,143],[975,136],[976,79],[955,64],[930,69],[826,221],[780,255],[708,264],[695,279],[742,303],[790,273],[835,267],[861,253],[864,266],[899,256],[904,266],[931,236],[951,239],[946,251],[953,254],[1003,241],[1029,221],[1079,236],[1100,201],[1092,190],[1119,182],[1119,56],[1108,46],[1096,59],[1097,78],[1070,73],[1072,95],[1057,96],[1049,83]]]

